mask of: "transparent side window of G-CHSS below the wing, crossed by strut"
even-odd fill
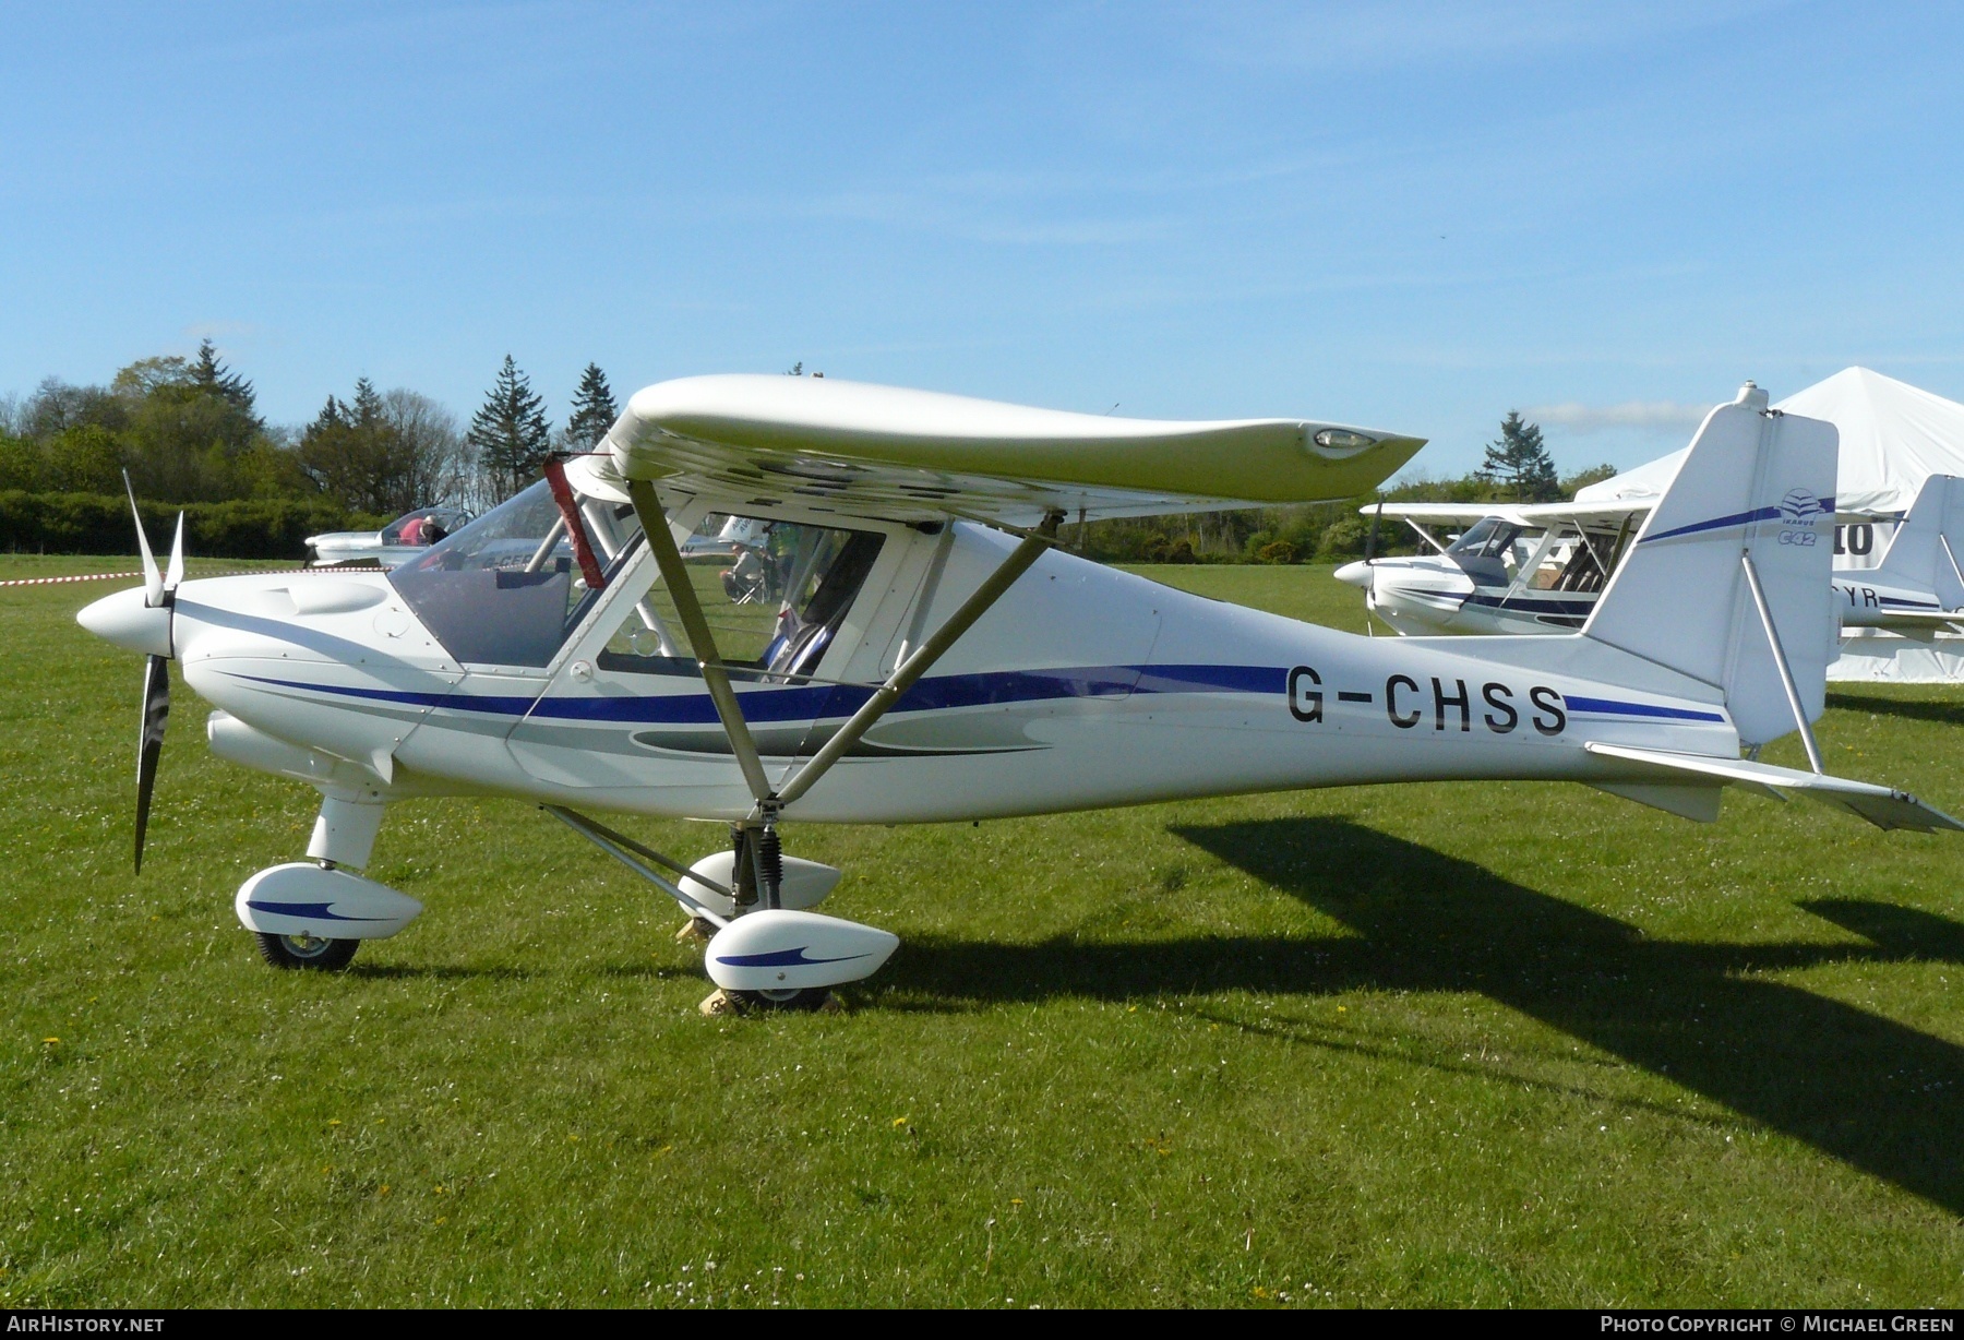
[[[817,670],[880,556],[868,530],[711,513],[682,546],[717,652],[754,678]],[[695,674],[674,593],[660,582],[599,656],[605,670]]]

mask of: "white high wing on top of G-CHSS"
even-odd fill
[[[1424,438],[1310,419],[1076,415],[831,377],[682,377],[636,391],[587,458],[597,485],[929,521],[1029,525],[1369,493]]]

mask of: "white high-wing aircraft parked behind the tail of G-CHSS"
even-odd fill
[[[1740,405],[1766,409],[1748,383]],[[1779,411],[1772,411],[1779,413]],[[1834,499],[1825,499],[1828,511]],[[1785,499],[1773,507],[1785,505]],[[1363,558],[1336,570],[1396,633],[1571,633],[1589,621],[1650,499],[1603,503],[1375,503],[1436,552]],[[1426,527],[1463,527],[1442,544]],[[1373,530],[1375,534],[1375,530]],[[1874,568],[1834,568],[1848,629],[1964,631],[1964,479],[1931,475]],[[1687,599],[1693,595],[1687,593]]]

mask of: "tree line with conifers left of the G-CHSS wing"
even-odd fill
[[[467,428],[426,395],[359,377],[302,428],[269,424],[251,381],[204,340],[192,358],[143,358],[108,385],[45,379],[0,397],[0,491],[120,495],[128,472],[153,503],[310,501],[395,517],[428,503],[483,511],[546,458],[591,450],[619,409],[587,363],[554,428],[511,356]]]

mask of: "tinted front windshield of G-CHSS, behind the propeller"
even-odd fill
[[[634,509],[577,495],[573,507],[611,576],[640,538]],[[544,479],[393,568],[389,582],[467,664],[548,664],[595,595]]]

